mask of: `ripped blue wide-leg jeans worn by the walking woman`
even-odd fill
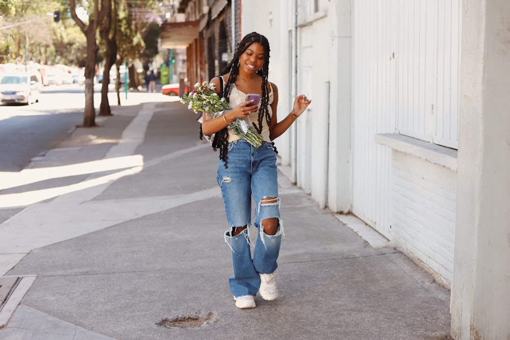
[[[232,251],[234,275],[228,280],[234,296],[256,295],[260,274],[276,270],[283,226],[279,214],[276,155],[271,143],[254,147],[245,140],[228,143],[227,166],[218,161],[216,180],[221,188],[229,229],[225,242]],[[254,226],[259,230],[251,256],[251,197],[255,202]],[[272,199],[268,199],[272,198]],[[278,219],[276,234],[264,232],[263,220]],[[234,227],[248,226],[236,236]]]

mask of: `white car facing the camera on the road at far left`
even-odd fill
[[[0,100],[3,103],[31,104],[39,101],[42,89],[39,73],[5,74],[0,80]]]

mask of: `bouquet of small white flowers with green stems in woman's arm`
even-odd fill
[[[232,108],[228,105],[225,98],[220,98],[220,96],[214,92],[215,90],[214,84],[208,86],[207,82],[203,82],[202,84],[196,83],[195,89],[189,94],[183,95],[181,102],[183,104],[188,104],[188,109],[193,110],[197,114],[207,113],[213,118],[220,117],[224,115],[226,111],[232,110]],[[243,119],[234,119],[232,123],[228,124],[228,128],[253,146],[259,147],[264,141],[262,136]],[[211,144],[212,138],[214,138],[214,136],[209,136],[208,138]]]

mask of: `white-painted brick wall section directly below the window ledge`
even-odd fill
[[[452,282],[456,172],[392,151],[391,239]]]

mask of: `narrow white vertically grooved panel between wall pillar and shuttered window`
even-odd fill
[[[396,1],[353,2],[352,212],[385,236],[390,226],[390,149],[374,136],[395,132]]]

